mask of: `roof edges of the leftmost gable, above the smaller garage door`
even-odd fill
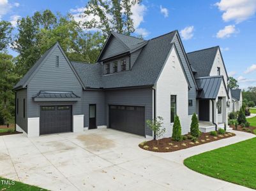
[[[41,64],[43,63],[44,60],[46,60],[48,58],[48,56],[50,55],[50,53],[52,53],[52,51],[58,47],[61,52],[63,53],[65,59],[67,60],[68,64],[70,65],[73,73],[75,74],[75,76],[77,77],[77,79],[79,80],[80,84],[82,85],[82,87],[84,87],[84,84],[82,83],[82,80],[80,79],[79,75],[77,74],[77,72],[75,71],[75,69],[73,68],[73,65],[71,64],[70,60],[68,59],[68,57],[66,57],[66,54],[64,53],[63,49],[61,48],[61,45],[59,45],[59,43],[57,42],[54,46],[52,46],[51,48],[49,48],[49,50],[47,50],[41,57],[40,59],[38,59],[36,61],[36,63],[29,69],[29,71],[27,71],[27,73],[23,76],[23,78],[20,79],[20,81],[13,87],[13,90],[18,90],[20,88],[25,88],[27,83],[31,80],[31,78],[34,76],[34,74],[36,73],[36,71],[38,71],[38,69],[40,68]]]

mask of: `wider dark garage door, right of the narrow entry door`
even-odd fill
[[[140,106],[109,106],[109,127],[145,136],[145,108]]]

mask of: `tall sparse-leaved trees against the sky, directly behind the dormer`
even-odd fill
[[[140,4],[141,0],[90,0],[84,11],[86,19],[83,23],[86,29],[100,29],[107,38],[111,31],[130,35],[135,31],[132,19],[132,6]]]

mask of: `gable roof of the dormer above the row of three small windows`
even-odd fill
[[[104,52],[109,45],[110,41],[112,41],[112,38],[116,38],[119,43],[121,43],[121,47],[123,50],[118,50],[117,54],[114,55],[108,55],[107,57],[104,56]],[[110,59],[112,56],[121,55],[123,53],[132,53],[139,48],[142,48],[147,44],[147,41],[140,38],[135,38],[133,36],[126,36],[124,34],[119,34],[117,32],[111,32],[107,40],[105,41],[105,44],[102,48],[102,51],[100,52],[100,55],[98,56],[97,62],[100,62],[101,60]]]

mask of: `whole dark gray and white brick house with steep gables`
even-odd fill
[[[186,134],[197,113],[210,131],[227,123],[227,78],[218,46],[187,54],[177,31],[149,40],[112,32],[95,64],[71,62],[56,43],[14,87],[16,128],[153,136],[146,120],[161,116],[168,137],[176,115]]]

